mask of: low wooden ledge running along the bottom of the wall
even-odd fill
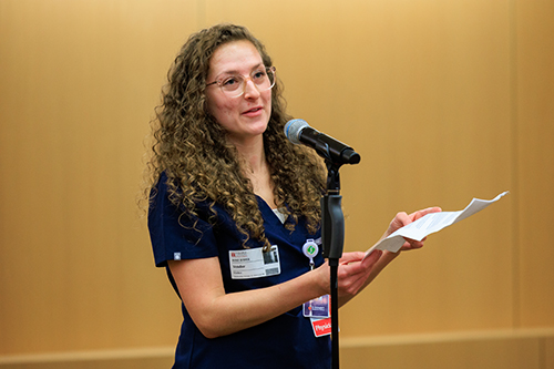
[[[552,369],[552,329],[350,338],[340,367],[401,369]],[[167,368],[171,349],[106,350],[0,358],[1,369]]]

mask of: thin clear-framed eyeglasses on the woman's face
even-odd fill
[[[242,96],[246,90],[246,81],[250,80],[259,92],[270,90],[275,85],[275,66],[261,66],[254,70],[249,76],[233,74],[206,84],[206,88],[217,84],[229,98]]]

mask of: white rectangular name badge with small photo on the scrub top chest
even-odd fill
[[[229,252],[230,278],[252,279],[280,274],[279,248],[273,245],[269,252],[264,248],[249,248]]]

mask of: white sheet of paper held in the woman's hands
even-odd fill
[[[481,212],[486,206],[497,202],[502,196],[506,195],[509,192],[503,192],[493,199],[479,199],[473,198],[463,211],[459,212],[441,212],[428,214],[418,221],[397,229],[393,234],[387,238],[381,239],[370,249],[366,252],[366,256],[371,254],[375,249],[389,250],[397,253],[400,247],[404,244],[404,237],[416,240],[421,240],[432,233],[437,233],[442,228],[445,228],[454,223],[465,219],[473,214]]]

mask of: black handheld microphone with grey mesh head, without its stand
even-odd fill
[[[305,120],[288,121],[285,125],[285,135],[291,143],[305,144],[334,164],[358,164],[361,160],[352,147],[314,130]]]

